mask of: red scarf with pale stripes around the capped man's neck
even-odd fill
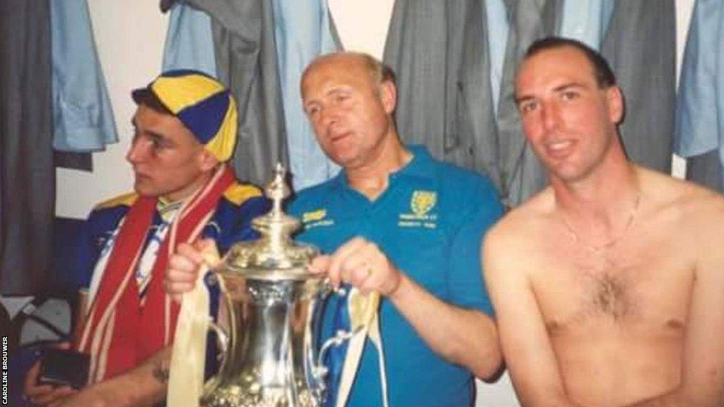
[[[140,197],[131,206],[77,344],[78,351],[90,354],[89,383],[127,372],[171,343],[179,305],[161,287],[169,256],[178,243],[198,238],[224,190],[234,182],[232,169],[219,167],[206,186],[183,204],[161,243],[143,300],[133,276],[157,199]]]

